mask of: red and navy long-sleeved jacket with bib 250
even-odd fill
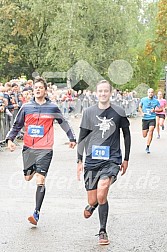
[[[33,98],[20,108],[6,141],[14,141],[18,132],[25,127],[24,146],[32,149],[52,149],[54,144],[54,120],[60,124],[70,141],[76,141],[75,134],[56,104],[46,98],[40,105]]]

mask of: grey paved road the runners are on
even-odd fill
[[[127,174],[119,176],[109,193],[108,234],[111,244],[97,245],[97,211],[83,218],[86,193],[76,180],[76,150],[68,149],[66,135],[55,126],[55,152],[47,177],[47,191],[38,227],[32,213],[35,180],[22,175],[21,146],[0,152],[1,252],[126,252],[167,251],[167,130],[154,137],[145,153],[141,119],[131,119],[132,151]],[[76,133],[80,119],[72,119]],[[167,127],[166,127],[167,129]]]

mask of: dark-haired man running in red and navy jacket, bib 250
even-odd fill
[[[69,138],[69,147],[74,148],[76,137],[72,128],[63,117],[60,109],[47,97],[47,83],[37,77],[34,80],[34,98],[22,105],[11,130],[6,136],[10,151],[16,145],[14,139],[18,132],[25,128],[23,139],[23,163],[25,180],[29,181],[36,174],[36,206],[33,215],[28,217],[30,223],[37,225],[40,209],[45,196],[45,178],[53,155],[54,127],[56,119]]]

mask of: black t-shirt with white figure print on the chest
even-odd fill
[[[86,152],[85,168],[92,169],[109,161],[117,164],[122,163],[120,128],[129,127],[129,120],[122,108],[114,104],[105,110],[99,109],[98,105],[89,107],[83,113],[80,127],[90,131],[90,134],[84,140]],[[108,157],[104,156],[103,158],[100,155],[101,157],[99,158],[98,155],[94,156],[96,147],[98,153],[104,150],[106,153],[106,148],[109,148]]]

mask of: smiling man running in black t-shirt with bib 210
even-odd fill
[[[88,206],[84,210],[89,218],[98,206],[100,230],[99,244],[109,244],[106,224],[108,217],[107,195],[110,185],[122,175],[128,167],[130,153],[129,121],[122,108],[110,104],[111,86],[106,80],[97,84],[98,105],[86,109],[80,125],[78,141],[77,176],[84,167],[85,188],[88,195]],[[120,149],[120,128],[122,128],[125,156],[122,162]],[[82,163],[85,150],[85,162]]]

